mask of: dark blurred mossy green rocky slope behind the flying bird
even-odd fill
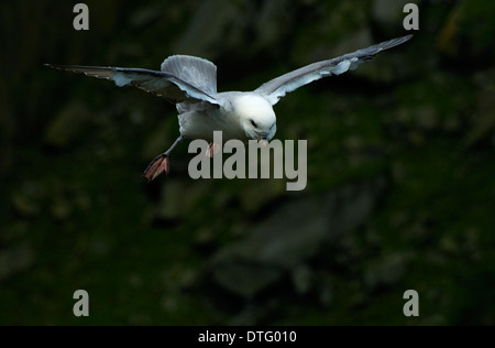
[[[0,324],[495,324],[495,2],[416,1],[415,37],[275,107],[308,185],[199,180],[173,105],[43,63],[217,64],[219,90],[405,35],[395,0],[2,1]],[[89,317],[73,293],[89,293]],[[406,290],[419,317],[403,315]]]

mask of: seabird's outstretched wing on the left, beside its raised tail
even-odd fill
[[[172,102],[208,101],[210,104],[219,104],[215,96],[167,72],[155,72],[141,68],[55,64],[45,64],[45,66],[113,80],[119,87],[128,85],[135,86],[147,93],[168,99]]]

